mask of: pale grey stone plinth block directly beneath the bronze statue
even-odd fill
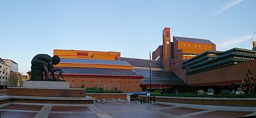
[[[69,82],[55,82],[55,81],[25,81],[23,87],[27,88],[58,88],[68,89]]]

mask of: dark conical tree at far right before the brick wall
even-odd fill
[[[252,70],[248,69],[245,78],[242,79],[242,89],[247,94],[254,93],[255,81],[252,76]]]

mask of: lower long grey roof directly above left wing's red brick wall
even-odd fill
[[[132,69],[105,69],[105,68],[79,68],[60,67],[63,74],[90,74],[90,75],[112,75],[112,76],[139,76]]]

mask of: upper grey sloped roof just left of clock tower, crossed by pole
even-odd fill
[[[149,68],[149,59],[134,59],[134,58],[125,58],[120,57],[120,60],[126,61],[131,64],[133,67],[146,67]],[[157,69],[164,69],[164,66],[161,61],[151,60],[151,67]]]

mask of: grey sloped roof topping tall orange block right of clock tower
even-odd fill
[[[190,41],[194,43],[200,43],[200,44],[213,44],[212,41],[208,39],[195,39],[190,37],[180,37],[180,36],[173,36],[177,41]]]

